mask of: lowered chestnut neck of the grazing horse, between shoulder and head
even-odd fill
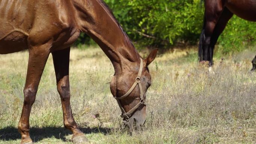
[[[73,0],[79,29],[101,47],[112,62],[115,73],[122,72],[127,63],[140,61],[130,42],[106,4],[101,0]]]

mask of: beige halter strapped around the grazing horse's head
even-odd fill
[[[143,59],[140,58],[140,70],[138,72],[138,76],[135,79],[134,84],[131,86],[131,88],[129,89],[129,91],[124,94],[121,97],[114,97],[116,99],[116,101],[118,102],[118,105],[122,111],[121,117],[125,118],[125,120],[128,122],[129,118],[131,117],[132,113],[134,113],[135,110],[137,110],[138,107],[140,107],[140,105],[146,105],[146,101],[144,101],[145,97],[143,94],[143,90],[142,90],[142,86],[141,86],[141,81],[140,81],[140,76],[142,73],[142,68],[143,68]],[[120,99],[124,99],[126,98],[129,94],[131,94],[131,92],[134,90],[135,86],[139,86],[140,89],[140,102],[135,105],[131,110],[129,110],[128,112],[125,112],[124,108],[121,105]]]

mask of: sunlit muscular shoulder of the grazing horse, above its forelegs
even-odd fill
[[[78,33],[74,12],[67,3],[55,1],[38,7],[28,36],[30,45],[44,44],[50,40],[61,43]]]

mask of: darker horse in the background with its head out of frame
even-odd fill
[[[198,56],[199,61],[209,61],[211,66],[214,46],[229,19],[235,14],[247,21],[256,21],[256,1],[204,0],[204,3],[204,27],[200,36]],[[256,56],[252,63],[252,70],[255,70]]]

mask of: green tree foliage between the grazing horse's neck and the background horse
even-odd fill
[[[131,39],[143,46],[195,43],[202,29],[201,0],[106,0]]]

